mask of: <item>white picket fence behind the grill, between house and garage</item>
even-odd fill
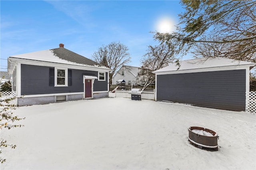
[[[131,90],[116,90],[116,97],[131,98]],[[144,90],[141,93],[141,99],[155,100],[155,89]]]

